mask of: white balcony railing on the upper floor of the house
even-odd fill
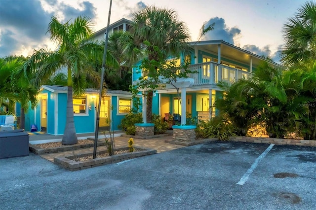
[[[217,84],[219,81],[235,82],[238,79],[248,79],[249,72],[243,71],[214,62],[194,64],[190,70],[197,73],[190,73],[189,78],[194,79],[194,86],[205,84]]]

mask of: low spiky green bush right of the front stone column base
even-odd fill
[[[236,136],[236,133],[234,125],[222,116],[200,121],[196,129],[197,138],[203,139],[218,138],[218,140],[229,140],[231,136]]]

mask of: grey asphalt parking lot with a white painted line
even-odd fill
[[[209,142],[69,172],[0,160],[0,209],[314,210],[316,148]]]

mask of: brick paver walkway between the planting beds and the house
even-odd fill
[[[127,143],[127,141],[129,140],[128,137],[115,137],[114,139],[115,139],[115,147],[116,148],[128,146],[128,143]],[[142,147],[146,147],[146,148],[150,148],[150,149],[155,149],[155,150],[157,150],[157,153],[184,147],[183,145],[166,143],[166,142],[164,142],[164,140],[172,140],[172,136],[165,136],[165,137],[154,138],[154,139],[145,139],[145,140],[134,138],[134,146],[135,147],[142,146]],[[106,149],[106,146],[98,146],[97,147],[97,151],[105,150],[105,149]],[[74,150],[74,151],[41,154],[40,156],[42,158],[45,158],[46,160],[53,162],[54,157],[66,157],[66,156],[73,156],[74,154],[76,155],[79,153],[89,153],[89,152],[93,152],[93,147],[85,148],[85,149],[78,149],[78,150]]]

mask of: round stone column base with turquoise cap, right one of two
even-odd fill
[[[173,130],[173,140],[178,141],[194,141],[196,140],[196,128],[194,125],[174,125]]]

